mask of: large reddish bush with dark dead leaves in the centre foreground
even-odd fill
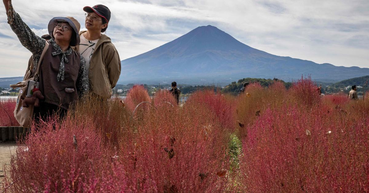
[[[129,186],[138,192],[224,191],[229,135],[208,108],[162,106],[144,120],[133,146],[121,146]]]

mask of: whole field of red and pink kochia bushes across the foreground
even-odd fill
[[[369,192],[369,99],[320,97],[310,78],[180,106],[134,86],[31,130],[6,192]]]

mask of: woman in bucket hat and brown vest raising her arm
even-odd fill
[[[46,40],[35,35],[22,21],[14,11],[11,0],[3,0],[3,3],[8,24],[21,44],[33,55],[35,72]],[[54,17],[48,24],[51,39],[47,43],[50,46],[40,63],[39,89],[34,90],[41,92],[38,97],[42,99],[39,106],[34,108],[36,119],[44,119],[54,112],[60,112],[62,117],[71,103],[89,91],[85,59],[70,47],[79,44],[79,29],[80,24],[73,17]]]

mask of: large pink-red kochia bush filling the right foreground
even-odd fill
[[[339,107],[267,110],[248,129],[245,192],[367,192],[369,118]]]

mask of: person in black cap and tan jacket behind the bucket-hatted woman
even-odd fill
[[[86,71],[89,75],[92,93],[101,98],[110,98],[117,84],[121,64],[117,49],[105,32],[110,21],[110,10],[104,5],[84,7],[86,11],[85,27],[79,32],[80,44],[76,50],[86,59]]]

